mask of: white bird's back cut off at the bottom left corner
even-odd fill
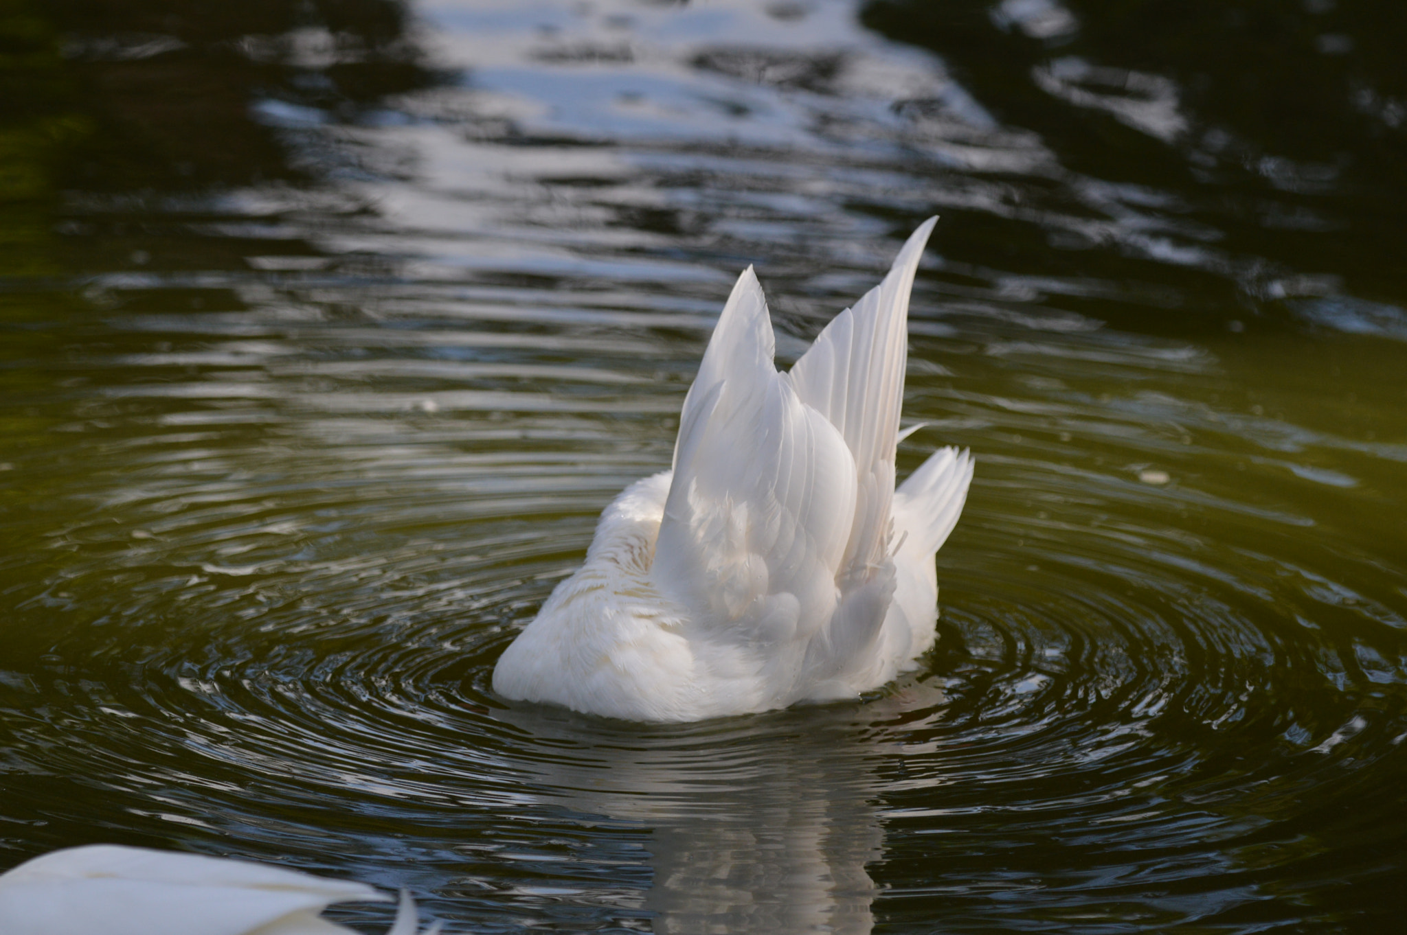
[[[362,883],[197,853],[115,844],[66,848],[0,875],[4,935],[357,935],[318,913],[387,901]],[[387,935],[415,935],[401,890]],[[439,932],[436,922],[425,935]]]

